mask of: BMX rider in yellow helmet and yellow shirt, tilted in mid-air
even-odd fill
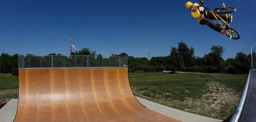
[[[197,4],[197,3],[186,3],[187,9],[191,11],[191,15],[202,25],[208,25],[210,28],[212,28],[215,31],[218,31],[222,34],[227,34],[227,31],[220,28],[215,23],[212,23],[210,20],[216,20],[212,13],[207,12],[203,6]],[[223,20],[228,21],[229,23],[232,22],[232,15],[229,14],[228,18],[223,15],[219,15]],[[208,19],[207,19],[208,18]]]

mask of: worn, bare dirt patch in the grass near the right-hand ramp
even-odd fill
[[[188,98],[183,102],[184,105],[193,106],[184,110],[191,113],[197,113],[212,118],[225,119],[223,112],[233,111],[237,102],[239,101],[240,94],[235,94],[234,90],[227,88],[219,82],[207,83],[206,94],[200,99]],[[231,115],[232,113],[226,113]]]

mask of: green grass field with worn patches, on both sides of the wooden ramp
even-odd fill
[[[134,95],[211,118],[235,110],[248,75],[129,73]],[[0,73],[0,99],[18,98],[18,77]]]

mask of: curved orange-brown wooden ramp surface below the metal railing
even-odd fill
[[[142,106],[128,68],[19,69],[15,122],[179,122]]]

